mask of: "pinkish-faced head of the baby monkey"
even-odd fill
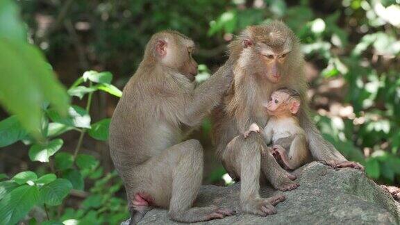
[[[295,90],[280,88],[269,97],[268,114],[278,117],[296,115],[299,112],[300,101],[300,95]]]

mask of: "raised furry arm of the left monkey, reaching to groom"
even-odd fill
[[[185,124],[196,126],[219,104],[232,82],[233,72],[228,68],[231,67],[220,67],[213,76],[194,89],[185,110]]]

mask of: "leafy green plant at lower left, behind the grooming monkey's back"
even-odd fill
[[[16,174],[8,181],[0,182],[0,224],[15,224],[19,222],[33,208],[33,206],[46,206],[47,214],[56,212],[56,208],[47,208],[63,204],[64,199],[69,193],[74,190],[85,190],[85,178],[99,179],[102,185],[106,185],[111,178],[117,176],[113,173],[104,175],[103,168],[100,167],[99,160],[88,154],[78,153],[81,149],[82,142],[71,153],[61,151],[63,149],[63,139],[56,138],[68,131],[78,131],[81,136],[88,131],[89,135],[96,140],[106,141],[108,139],[108,128],[110,119],[101,119],[99,122],[90,124],[91,118],[89,115],[91,98],[93,92],[102,90],[100,85],[113,89],[116,95],[121,95],[121,91],[111,85],[113,75],[109,72],[85,72],[81,78],[74,83],[68,93],[71,96],[77,96],[80,99],[88,95],[88,104],[86,108],[80,106],[69,106],[67,117],[60,115],[56,110],[56,106],[44,106],[40,112],[41,124],[38,127],[40,135],[43,139],[35,141],[31,139],[26,142],[31,144],[28,156],[32,161],[41,163],[51,163],[54,168],[51,172],[43,174],[38,178],[35,172],[25,171]],[[93,85],[93,83],[97,83]],[[88,84],[88,87],[85,86]],[[91,92],[73,92],[76,87],[84,87],[92,90]],[[23,87],[20,87],[23,88]],[[1,147],[13,144],[21,140],[29,140],[30,136],[25,128],[19,125],[17,117],[11,116],[0,122],[0,144]],[[1,174],[1,179],[8,178],[6,174]],[[102,178],[103,176],[103,178]],[[102,218],[103,222],[119,222],[126,218],[126,208],[122,199],[113,197],[113,194],[121,188],[122,183],[118,181],[117,185],[111,186],[108,194],[104,194],[99,190],[93,190],[93,194],[88,200],[83,201],[86,208],[98,208],[99,212],[92,210],[82,210],[78,216],[74,216],[75,220],[81,223],[97,223],[98,219]],[[103,188],[103,186],[101,186]],[[95,197],[101,197],[101,201],[96,205],[90,203]],[[110,203],[108,203],[110,201]],[[117,204],[117,205],[115,205]],[[101,207],[100,207],[101,206]],[[104,208],[108,207],[108,208]],[[106,211],[112,212],[110,217],[103,217]],[[96,215],[95,215],[96,214]],[[60,218],[58,218],[60,219]],[[52,221],[52,222],[51,222]],[[49,220],[50,224],[57,224],[56,220]]]

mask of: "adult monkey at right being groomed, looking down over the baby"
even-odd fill
[[[299,186],[291,180],[272,156],[259,133],[243,134],[253,123],[265,126],[263,101],[278,88],[290,88],[300,94],[303,107],[297,113],[306,133],[308,149],[313,158],[333,167],[363,169],[349,162],[317,130],[309,116],[308,89],[304,60],[299,40],[283,22],[248,26],[228,44],[229,58],[224,69],[233,72],[233,83],[213,110],[213,142],[217,157],[230,176],[240,179],[240,204],[247,213],[266,215],[260,204],[260,182],[266,180],[278,190]],[[230,69],[231,68],[231,69]],[[268,205],[271,208],[271,205]],[[274,213],[270,210],[267,214]]]

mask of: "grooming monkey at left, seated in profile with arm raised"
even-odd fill
[[[137,223],[156,206],[177,222],[233,215],[216,206],[191,208],[203,173],[203,148],[185,138],[217,106],[232,74],[220,69],[194,88],[194,42],[176,31],[149,40],[138,70],[126,84],[110,124],[110,155],[122,177]]]

